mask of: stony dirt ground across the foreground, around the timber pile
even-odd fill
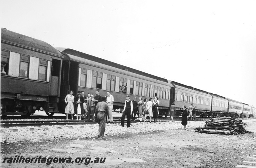
[[[246,122],[246,121],[244,121]],[[1,167],[236,167],[256,154],[256,120],[246,122],[253,134],[213,135],[175,129],[79,139],[1,143]],[[153,123],[152,123],[153,124]],[[129,128],[127,128],[129,129]],[[82,146],[83,145],[83,146]],[[3,163],[4,157],[106,157],[105,163]],[[93,160],[92,159],[92,160]],[[87,160],[88,161],[88,160]]]

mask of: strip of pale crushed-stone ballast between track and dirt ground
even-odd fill
[[[205,121],[188,121],[187,128],[189,131],[194,131],[194,128],[204,125],[204,122]],[[144,132],[150,133],[151,131],[172,130],[182,127],[181,121],[132,123],[130,128],[121,127],[120,124],[108,123],[106,124],[105,136],[119,136]],[[97,135],[98,129],[98,124],[1,128],[1,142],[42,142],[60,139],[93,138]]]

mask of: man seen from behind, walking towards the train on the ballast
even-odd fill
[[[95,113],[97,113],[97,120],[100,125],[99,134],[97,137],[100,138],[101,136],[104,136],[106,127],[106,115],[108,116],[109,113],[106,97],[102,97],[101,101],[97,103],[97,106],[95,107]]]

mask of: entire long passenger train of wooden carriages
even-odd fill
[[[122,85],[127,93],[119,92]],[[159,116],[165,117],[173,102],[177,116],[190,104],[197,116],[256,112],[236,100],[1,28],[1,115],[29,116],[39,109],[49,116],[64,113],[64,98],[71,90],[100,90],[101,96],[111,91],[113,109],[124,108],[126,95],[137,100],[158,97]]]

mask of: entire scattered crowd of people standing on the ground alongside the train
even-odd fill
[[[125,88],[125,87],[124,87]],[[124,90],[122,87],[122,89]],[[77,91],[76,97],[73,95],[74,91],[70,91],[65,97],[65,113],[66,120],[68,120],[68,115],[71,115],[71,120],[73,120],[73,115],[76,114],[76,120],[85,120],[97,121],[99,123],[99,131],[98,137],[104,136],[106,121],[113,121],[112,109],[114,103],[114,97],[111,95],[110,91],[107,91],[107,96],[100,96],[100,91],[95,91],[95,96],[93,94],[88,93],[87,97],[84,95],[84,91]],[[130,96],[126,96],[126,100],[124,102],[124,110],[121,117],[121,126],[124,127],[125,116],[127,116],[127,128],[131,126],[131,119],[135,120],[137,107],[138,107],[138,117],[140,121],[147,122],[147,116],[149,116],[149,122],[151,123],[152,117],[153,122],[156,123],[159,111],[158,106],[160,102],[158,97],[144,99],[139,97],[134,97],[133,100],[130,99]],[[182,122],[184,125],[184,130],[186,130],[186,125],[188,123],[188,117],[195,118],[195,107],[191,104],[188,107],[188,112],[186,110],[186,106],[183,106],[182,114]],[[176,113],[175,104],[172,103],[170,107],[170,116],[173,120],[174,114]],[[94,117],[95,115],[95,117]],[[192,118],[191,118],[192,119]]]

